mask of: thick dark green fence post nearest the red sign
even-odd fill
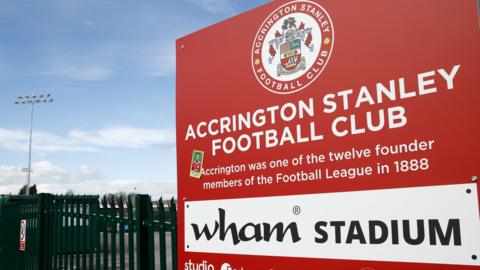
[[[135,232],[137,234],[137,269],[148,269],[148,228],[143,225],[147,219],[148,195],[136,195]]]

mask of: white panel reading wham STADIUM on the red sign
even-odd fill
[[[480,265],[477,186],[185,202],[185,251]]]

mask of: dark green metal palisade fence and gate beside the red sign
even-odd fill
[[[173,199],[164,207],[148,195],[1,197],[0,269],[177,270],[176,224]]]

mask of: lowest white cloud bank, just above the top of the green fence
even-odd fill
[[[25,185],[26,173],[19,166],[0,165],[0,194],[16,194]],[[143,179],[110,179],[101,172],[81,165],[79,173],[72,175],[69,170],[49,161],[39,161],[32,165],[31,184],[43,193],[65,194],[72,190],[75,194],[143,193],[154,198],[176,196],[174,181]]]

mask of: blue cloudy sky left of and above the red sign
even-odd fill
[[[176,195],[175,40],[266,0],[0,0],[0,194]]]

